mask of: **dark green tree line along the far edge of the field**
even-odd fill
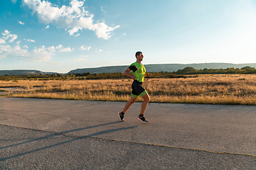
[[[151,72],[151,78],[187,78],[197,77],[196,74],[255,74],[255,67],[227,68],[227,69],[194,69],[193,67],[185,67],[178,69],[177,72]],[[16,79],[126,79],[128,78],[121,72],[115,73],[69,73],[69,74],[30,74],[30,75],[1,75],[0,80],[16,80]]]

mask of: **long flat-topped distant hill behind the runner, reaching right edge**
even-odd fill
[[[194,69],[226,69],[228,67],[242,68],[245,66],[255,67],[256,63],[249,64],[231,64],[231,63],[201,63],[201,64],[144,64],[146,67],[146,72],[176,72],[178,69],[183,69],[185,67],[193,67]],[[114,73],[114,72],[124,72],[125,69],[129,67],[124,66],[109,66],[109,67],[97,67],[97,68],[85,68],[85,69],[73,69],[68,73]]]

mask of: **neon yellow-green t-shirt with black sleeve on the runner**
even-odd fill
[[[134,73],[134,77],[136,77],[136,80],[139,82],[144,81],[144,77],[146,74],[146,69],[143,64],[139,64],[138,62],[134,62],[129,65],[128,67],[132,72]]]

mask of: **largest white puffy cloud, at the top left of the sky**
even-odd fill
[[[109,39],[112,31],[119,26],[110,27],[105,23],[93,23],[94,15],[85,11],[84,2],[72,0],[70,6],[63,5],[58,8],[50,1],[23,0],[23,5],[33,9],[33,13],[37,14],[42,23],[53,23],[56,26],[68,28],[70,35],[77,33],[78,30],[89,29],[94,30],[98,38]]]

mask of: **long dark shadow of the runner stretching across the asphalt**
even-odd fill
[[[94,126],[89,126],[89,127],[85,127],[85,128],[78,128],[78,129],[75,129],[75,130],[67,130],[67,131],[63,131],[63,132],[54,132],[53,134],[50,134],[50,135],[46,135],[44,137],[39,137],[37,139],[34,139],[34,140],[28,140],[26,142],[20,142],[20,143],[17,143],[17,144],[14,144],[14,145],[9,145],[9,146],[5,146],[5,147],[0,147],[0,149],[6,149],[6,148],[9,148],[9,147],[16,147],[18,145],[23,145],[23,144],[27,144],[29,142],[35,142],[35,141],[38,141],[38,140],[44,140],[44,139],[47,139],[49,137],[55,137],[57,135],[65,135],[69,132],[77,132],[77,131],[80,131],[80,130],[86,130],[86,129],[90,129],[90,128],[97,128],[97,127],[100,127],[100,126],[104,126],[104,125],[111,125],[111,124],[114,124],[114,123],[120,123],[119,121],[118,122],[113,122],[113,123],[105,123],[105,124],[102,124],[102,125],[94,125]],[[73,137],[71,140],[67,140],[65,142],[59,142],[57,144],[54,144],[54,145],[50,145],[50,146],[47,146],[47,147],[41,147],[41,148],[38,148],[38,149],[33,149],[31,151],[28,151],[28,152],[23,152],[21,154],[15,154],[13,156],[10,156],[10,157],[4,157],[4,158],[1,158],[0,159],[0,162],[4,162],[5,160],[7,159],[12,159],[14,157],[20,157],[20,156],[23,156],[23,155],[26,155],[26,154],[31,154],[33,152],[38,152],[38,151],[41,151],[43,149],[49,149],[51,147],[56,147],[56,146],[59,146],[59,145],[64,145],[66,143],[69,143],[69,142],[73,142],[73,141],[76,141],[76,140],[82,140],[83,138],[85,137],[95,137],[97,135],[104,135],[104,134],[107,134],[107,133],[111,133],[111,132],[117,132],[117,131],[120,131],[120,130],[128,130],[128,129],[132,129],[132,128],[137,128],[138,126],[130,126],[130,127],[127,127],[127,128],[117,128],[117,129],[112,129],[112,130],[102,130],[100,132],[95,132],[95,133],[92,133],[90,135],[85,135],[85,136],[82,136],[82,137]],[[72,137],[72,136],[70,136]]]

